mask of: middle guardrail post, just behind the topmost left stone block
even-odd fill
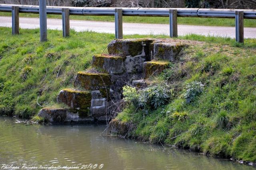
[[[115,9],[115,34],[116,39],[123,38],[123,10],[116,8]]]

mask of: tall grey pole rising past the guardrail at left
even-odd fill
[[[39,0],[40,41],[47,41],[46,0]]]

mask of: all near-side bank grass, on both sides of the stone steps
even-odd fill
[[[20,29],[13,36],[10,28],[0,27],[0,114],[28,118],[41,106],[56,106],[58,92],[71,88],[76,73],[90,66],[92,55],[107,53],[114,39],[114,34],[74,30],[67,38],[48,30],[44,43],[39,36],[39,29]],[[168,36],[124,36],[142,37]],[[118,119],[136,125],[129,136],[143,141],[256,161],[256,39],[244,44],[195,34],[178,39],[204,42],[184,51],[183,65],[154,78],[173,86],[172,100],[145,117],[142,110],[127,107]],[[201,81],[204,91],[186,104],[184,88],[192,81]]]

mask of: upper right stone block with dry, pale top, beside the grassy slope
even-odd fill
[[[154,60],[178,61],[178,54],[185,44],[178,43],[155,43],[154,44]]]

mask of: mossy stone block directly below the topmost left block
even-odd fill
[[[109,74],[122,74],[124,72],[123,58],[112,55],[94,55],[92,65],[103,69]]]

